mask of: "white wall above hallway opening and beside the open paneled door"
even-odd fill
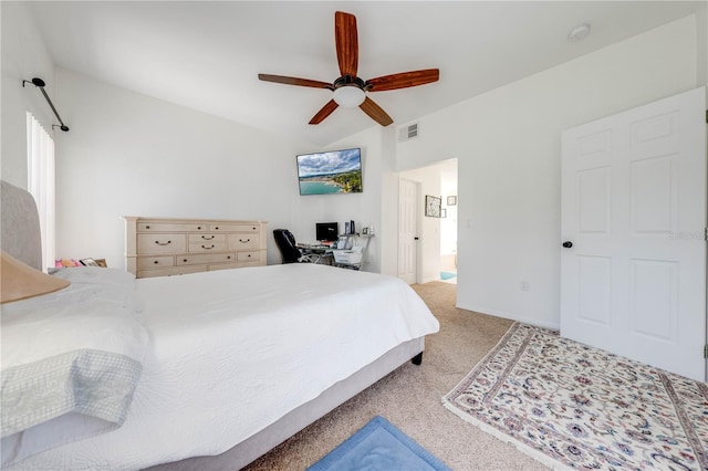
[[[459,307],[559,326],[562,130],[696,87],[698,62],[689,17],[418,119],[399,170],[458,158]]]

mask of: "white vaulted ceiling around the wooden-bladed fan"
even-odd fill
[[[233,122],[325,146],[378,126],[361,109],[310,118],[332,82],[334,12],[358,23],[362,78],[438,67],[440,81],[369,93],[399,126],[686,17],[700,1],[49,1],[31,8],[56,65]],[[580,42],[571,29],[590,23]]]

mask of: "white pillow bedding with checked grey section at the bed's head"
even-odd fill
[[[121,427],[140,378],[148,333],[133,274],[84,268],[58,276],[71,285],[1,308],[3,468]]]

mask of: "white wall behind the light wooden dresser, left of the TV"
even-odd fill
[[[296,228],[296,143],[58,69],[58,257],[124,268],[123,216],[266,220]],[[62,116],[64,117],[64,116]],[[319,210],[315,208],[315,210]],[[280,263],[272,236],[268,262]]]

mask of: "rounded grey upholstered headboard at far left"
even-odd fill
[[[0,181],[0,245],[15,259],[42,270],[42,239],[37,203],[29,191]]]

